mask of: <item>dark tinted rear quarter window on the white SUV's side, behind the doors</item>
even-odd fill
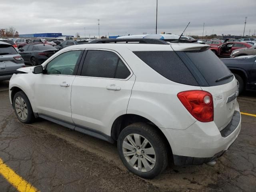
[[[198,82],[176,52],[136,51],[134,54],[165,78],[181,84],[198,86]]]

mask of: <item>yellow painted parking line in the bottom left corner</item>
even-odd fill
[[[4,164],[0,158],[0,174],[12,184],[19,192],[38,192],[29,182],[25,181],[21,176],[16,174],[14,170]]]

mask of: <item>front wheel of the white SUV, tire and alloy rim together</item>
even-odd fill
[[[23,91],[17,92],[13,97],[14,112],[22,123],[33,122],[35,116],[28,97]]]

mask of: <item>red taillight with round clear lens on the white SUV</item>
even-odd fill
[[[177,96],[188,112],[198,121],[213,121],[212,94],[207,91],[191,90],[180,92]]]

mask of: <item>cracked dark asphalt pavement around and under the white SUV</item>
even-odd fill
[[[256,118],[242,115],[237,140],[213,168],[170,164],[153,180],[126,170],[116,144],[38,119],[22,124],[8,97],[8,82],[0,82],[0,158],[41,192],[255,192]],[[256,114],[256,93],[239,96],[241,112]],[[14,188],[0,175],[0,191]]]

